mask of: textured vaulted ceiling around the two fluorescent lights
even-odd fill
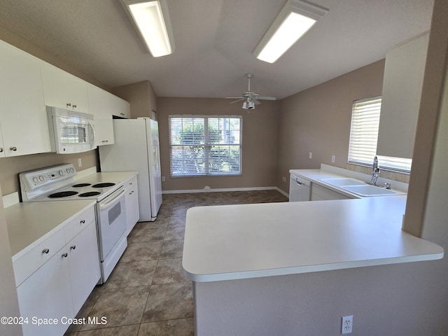
[[[176,46],[153,58],[119,0],[0,0],[0,25],[109,87],[160,97],[288,97],[386,56],[430,28],[433,0],[313,0],[330,9],[274,64],[253,50],[285,0],[168,0]]]

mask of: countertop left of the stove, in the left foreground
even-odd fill
[[[6,208],[13,261],[94,204],[94,200],[23,202]]]

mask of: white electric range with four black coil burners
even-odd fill
[[[99,259],[104,283],[127,246],[125,188],[121,182],[98,181],[97,174],[76,181],[74,176],[76,170],[72,164],[20,173],[22,201],[96,200]]]

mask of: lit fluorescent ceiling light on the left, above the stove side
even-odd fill
[[[165,0],[122,0],[151,55],[174,52],[171,22]]]

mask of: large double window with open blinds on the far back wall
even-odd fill
[[[241,116],[169,116],[171,176],[241,174]]]

